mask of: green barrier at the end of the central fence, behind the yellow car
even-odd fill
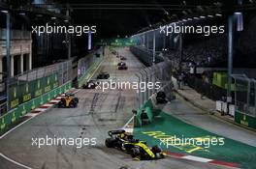
[[[135,117],[135,127],[142,127],[142,118],[141,115],[144,112],[146,113],[149,123],[152,123],[153,117],[157,116],[161,110],[154,109],[153,103],[151,99],[148,99],[144,105],[137,110],[137,115]]]

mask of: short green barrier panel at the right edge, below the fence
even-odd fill
[[[252,127],[256,129],[256,117],[243,114],[238,110],[235,112],[235,122],[245,127]]]

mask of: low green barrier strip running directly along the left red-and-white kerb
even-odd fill
[[[9,127],[11,124],[16,123],[16,121],[19,118],[21,118],[31,110],[35,109],[39,105],[44,104],[48,102],[50,99],[53,99],[58,95],[67,92],[70,88],[71,88],[71,82],[69,81],[38,98],[31,99],[25,103],[19,104],[18,106],[16,106],[15,109],[11,110],[10,112],[8,112],[7,114],[5,114],[0,118],[0,131],[3,131],[4,129]]]

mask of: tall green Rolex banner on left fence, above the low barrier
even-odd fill
[[[58,86],[57,73],[11,86],[9,89],[9,109],[14,109],[19,104],[27,102],[30,99],[38,98]]]

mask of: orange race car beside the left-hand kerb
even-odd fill
[[[78,106],[79,99],[74,95],[66,94],[64,98],[61,98],[58,102],[58,108],[75,108]]]

